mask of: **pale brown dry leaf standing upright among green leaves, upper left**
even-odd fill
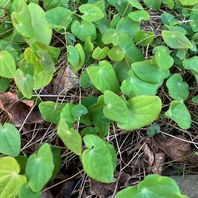
[[[66,94],[71,89],[77,87],[79,78],[67,67],[61,69],[53,80],[53,94]]]

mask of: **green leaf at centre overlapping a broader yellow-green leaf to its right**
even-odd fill
[[[103,112],[108,119],[119,123],[128,122],[128,107],[121,97],[111,91],[105,91],[104,102],[106,106]]]

